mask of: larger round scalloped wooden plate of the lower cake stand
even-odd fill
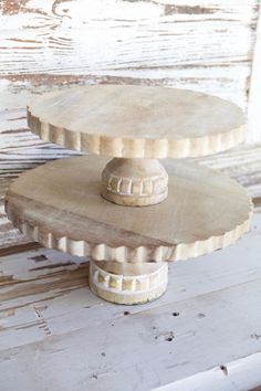
[[[9,218],[46,247],[117,262],[195,257],[233,244],[249,230],[251,201],[220,172],[166,160],[168,198],[126,208],[100,196],[106,161],[73,157],[23,173],[7,193]]]

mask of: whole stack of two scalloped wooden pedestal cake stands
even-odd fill
[[[175,88],[80,86],[35,99],[28,124],[44,140],[91,155],[21,175],[7,213],[44,246],[90,256],[91,289],[108,302],[159,297],[167,261],[226,247],[249,229],[246,190],[180,159],[243,140],[246,119],[232,103]],[[165,168],[157,159],[168,159]]]

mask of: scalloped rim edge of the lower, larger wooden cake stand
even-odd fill
[[[246,191],[246,196],[247,191]],[[8,200],[6,201],[6,212],[8,218],[13,222],[24,235],[29,235],[35,242],[41,243],[44,247],[54,249],[71,255],[90,256],[95,261],[116,261],[116,262],[174,262],[188,260],[196,256],[211,253],[219,249],[225,249],[234,244],[250,229],[250,221],[253,213],[253,203],[249,199],[249,213],[247,219],[238,224],[233,230],[225,232],[222,235],[210,236],[203,241],[191,243],[179,243],[170,246],[155,246],[154,249],[146,246],[137,246],[136,249],[128,246],[113,247],[105,243],[92,244],[85,241],[75,241],[67,236],[55,237],[52,232],[40,225],[32,226],[24,221],[18,213],[15,207],[10,208]]]

